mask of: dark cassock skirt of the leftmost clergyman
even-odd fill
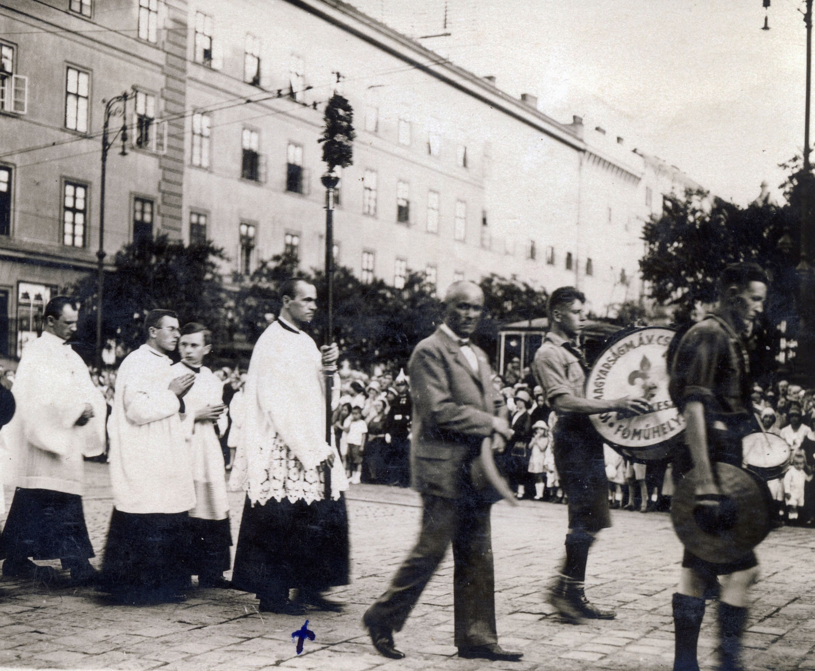
[[[0,559],[93,556],[81,496],[53,489],[15,489],[0,537]]]

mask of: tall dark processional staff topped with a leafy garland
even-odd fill
[[[339,81],[337,73],[337,81]],[[350,103],[336,92],[325,107],[325,129],[319,143],[323,144],[323,160],[327,166],[321,178],[325,186],[325,278],[328,283],[328,326],[325,330],[325,344],[334,340],[334,190],[339,178],[334,169],[339,165],[347,168],[352,164],[354,147],[354,109]],[[325,371],[325,441],[331,443],[331,397],[336,366]]]

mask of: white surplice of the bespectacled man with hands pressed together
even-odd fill
[[[113,505],[127,513],[179,513],[196,505],[187,437],[170,382],[170,357],[148,344],[127,355],[108,420]]]

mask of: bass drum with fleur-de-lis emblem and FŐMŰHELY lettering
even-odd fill
[[[625,457],[669,461],[681,441],[685,420],[667,391],[667,349],[676,331],[643,327],[623,331],[597,357],[586,378],[586,398],[644,398],[650,413],[590,415],[603,441]]]

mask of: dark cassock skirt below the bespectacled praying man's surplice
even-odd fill
[[[165,599],[190,584],[189,516],[113,508],[100,589],[132,599]]]

